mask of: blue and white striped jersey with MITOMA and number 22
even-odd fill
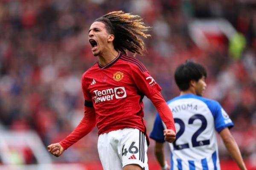
[[[225,127],[233,127],[221,105],[194,94],[177,96],[167,104],[177,130],[175,142],[169,143],[171,170],[220,170],[215,130],[220,133]],[[164,128],[157,114],[150,138],[165,142]]]

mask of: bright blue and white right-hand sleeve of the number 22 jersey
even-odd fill
[[[232,128],[234,126],[232,120],[218,102],[214,101],[208,105],[208,107],[214,117],[215,130],[217,130],[218,133],[225,127]]]

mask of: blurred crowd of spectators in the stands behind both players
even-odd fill
[[[179,94],[173,74],[186,59],[205,65],[205,96],[230,115],[244,159],[256,160],[256,3],[253,0],[0,0],[0,125],[35,130],[45,146],[59,142],[83,116],[81,75],[96,62],[88,29],[113,10],[139,14],[151,26],[145,56],[137,56],[162,87],[166,100]],[[228,39],[208,48],[192,40],[194,19],[224,18],[245,38],[241,54]],[[132,56],[132,55],[131,55]],[[156,110],[144,99],[150,132]],[[58,161],[98,159],[97,128]],[[229,158],[219,141],[221,158]],[[152,150],[149,150],[152,156]]]

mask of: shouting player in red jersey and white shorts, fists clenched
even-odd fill
[[[140,37],[149,27],[138,15],[113,11],[96,19],[89,29],[89,42],[98,62],[82,76],[84,117],[65,139],[50,144],[48,151],[60,156],[64,150],[99,129],[98,152],[104,170],[148,169],[148,136],[142,99],[147,96],[159,111],[167,130],[167,142],[175,140],[172,112],[160,94],[160,86],[145,66],[127,51],[143,54]]]

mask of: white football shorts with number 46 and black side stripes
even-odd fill
[[[138,129],[125,128],[99,135],[99,159],[104,170],[122,170],[125,165],[138,164],[148,170],[146,136]]]

